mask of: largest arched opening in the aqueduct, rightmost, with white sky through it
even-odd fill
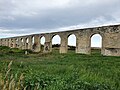
[[[101,53],[102,49],[102,36],[100,34],[93,34],[91,36],[91,51],[92,53]]]

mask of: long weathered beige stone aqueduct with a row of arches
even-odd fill
[[[1,46],[11,48],[31,49],[34,52],[41,51],[41,37],[45,37],[44,52],[52,51],[52,38],[59,35],[61,38],[60,53],[67,53],[68,36],[76,36],[76,53],[91,53],[91,37],[99,34],[102,37],[101,54],[106,56],[120,56],[120,25],[101,26],[94,28],[76,29],[70,31],[52,32],[18,36],[0,39]],[[34,37],[34,43],[32,43]],[[33,48],[34,46],[34,48]]]

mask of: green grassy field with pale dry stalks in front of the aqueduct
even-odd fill
[[[24,51],[0,47],[0,90],[120,90],[120,57]]]

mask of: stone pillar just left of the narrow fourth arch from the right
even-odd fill
[[[40,38],[39,38],[39,35],[34,36],[33,50],[34,50],[34,52],[39,52],[40,51]]]

